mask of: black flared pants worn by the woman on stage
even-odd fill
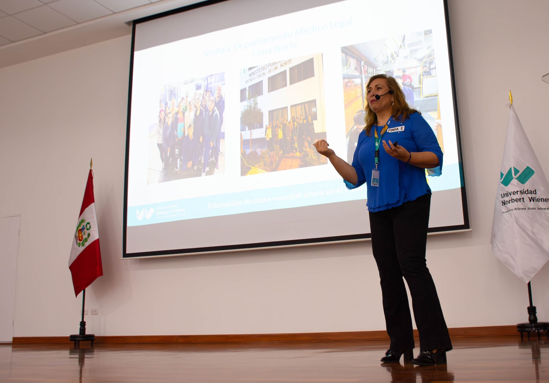
[[[401,206],[369,213],[372,251],[379,270],[390,349],[414,348],[406,279],[421,351],[452,349],[433,277],[425,261],[430,194]]]

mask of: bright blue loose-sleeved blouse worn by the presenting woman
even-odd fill
[[[372,169],[376,167],[374,164],[376,141],[373,134],[376,128],[379,134],[383,126],[373,126],[369,136],[366,135],[365,130],[358,136],[355,155],[352,159],[352,167],[356,170],[358,181],[356,185],[352,185],[344,180],[345,185],[349,189],[354,189],[366,183],[368,196],[366,206],[370,212],[394,208],[430,193],[425,169],[391,157],[383,148],[383,141],[389,145],[391,140],[393,143],[398,141],[397,145],[403,146],[408,152],[433,152],[439,159],[439,166],[429,169],[429,175],[441,175],[442,151],[427,121],[419,113],[411,114],[404,121],[391,118],[389,129],[381,137],[382,142],[379,145],[379,186],[371,186]]]

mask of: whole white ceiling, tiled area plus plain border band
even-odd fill
[[[0,68],[131,35],[132,20],[200,1],[0,0]]]

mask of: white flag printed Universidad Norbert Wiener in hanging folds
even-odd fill
[[[528,283],[549,260],[549,184],[511,106],[497,187],[492,252]]]

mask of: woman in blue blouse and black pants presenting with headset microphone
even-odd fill
[[[366,85],[366,127],[352,165],[326,140],[315,143],[348,188],[366,183],[372,252],[379,270],[385,324],[391,343],[382,362],[413,358],[414,340],[406,279],[419,332],[414,364],[446,363],[452,343],[433,278],[425,262],[431,190],[425,169],[440,175],[442,151],[421,114],[408,107],[393,77],[376,75]]]

